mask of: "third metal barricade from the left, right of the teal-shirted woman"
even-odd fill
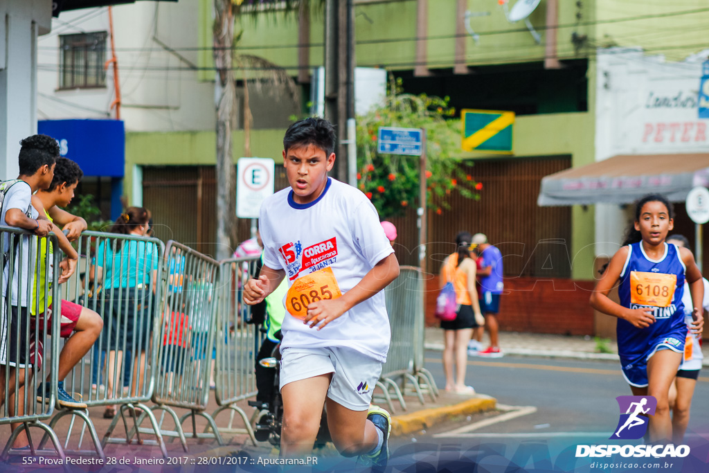
[[[192,419],[192,438],[215,438],[223,445],[213,418],[205,412],[213,369],[216,334],[219,263],[181,243],[169,241],[165,250],[166,280],[162,308],[156,319],[157,365],[153,411],[164,411],[175,422],[175,431],[187,452],[182,423]],[[172,409],[189,412],[181,418]],[[206,419],[212,433],[197,433],[196,416]],[[162,422],[161,422],[162,423]],[[142,429],[139,429],[142,431]]]

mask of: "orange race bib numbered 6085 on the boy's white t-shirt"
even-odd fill
[[[308,306],[317,301],[342,296],[333,268],[326,267],[296,279],[286,294],[286,310],[296,318],[306,318]]]

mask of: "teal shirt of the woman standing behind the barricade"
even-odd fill
[[[104,267],[105,243],[99,245],[94,259],[96,266]],[[155,243],[125,240],[121,250],[113,253],[109,243],[105,257],[104,287],[131,288],[150,283],[150,272],[157,270],[157,247]]]

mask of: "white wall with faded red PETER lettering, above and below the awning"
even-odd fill
[[[596,161],[615,155],[709,152],[709,120],[698,118],[701,61],[665,62],[640,50],[598,50]],[[681,159],[681,156],[678,156]],[[596,205],[596,255],[613,253],[632,212]]]

